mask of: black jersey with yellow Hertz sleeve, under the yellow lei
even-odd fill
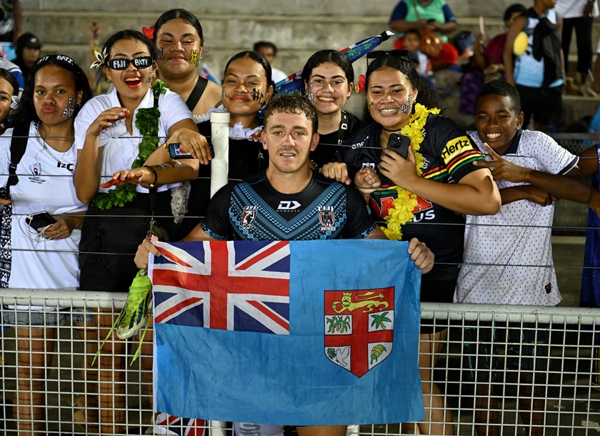
[[[364,167],[377,169],[381,162],[381,126],[373,123],[350,139],[349,147],[342,147],[336,160],[348,165],[351,177]],[[456,183],[471,172],[481,169],[473,162],[484,159],[479,149],[471,144],[464,130],[450,119],[430,114],[424,127],[421,154],[425,158],[423,176],[441,183]],[[371,193],[371,210],[378,222],[384,224],[394,199],[398,197],[394,182],[379,173],[381,187]],[[414,218],[402,228],[403,239],[416,237],[425,242],[436,255],[434,269],[424,280],[456,279],[462,262],[464,217],[427,199],[417,197]]]

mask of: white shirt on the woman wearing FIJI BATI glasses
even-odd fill
[[[104,153],[102,155],[102,164],[100,170],[100,183],[108,181],[112,175],[121,171],[122,169],[131,168],[131,164],[134,163],[137,155],[139,154],[139,142],[141,141],[141,134],[139,129],[136,127],[136,117],[139,109],[145,109],[154,105],[154,96],[152,90],[149,89],[144,99],[139,104],[138,108],[134,113],[133,132],[130,135],[127,132],[125,120],[120,119],[115,122],[111,127],[104,129],[99,137],[99,147],[104,147]],[[75,146],[77,149],[84,148],[84,142],[86,139],[86,132],[91,123],[93,123],[101,112],[112,107],[121,107],[119,102],[119,96],[117,96],[116,89],[113,89],[109,94],[102,94],[95,96],[89,100],[75,119]],[[169,137],[169,129],[176,122],[182,119],[192,119],[191,112],[186,106],[184,99],[175,94],[169,89],[166,90],[165,94],[159,96],[159,111],[161,117],[159,118],[159,138],[161,142],[166,141]],[[159,192],[169,189],[172,185],[164,185],[159,187]],[[99,187],[99,192],[108,192],[110,188]],[[148,189],[137,185],[137,192],[147,193]]]

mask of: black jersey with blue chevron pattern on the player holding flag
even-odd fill
[[[296,194],[281,194],[266,174],[228,184],[217,192],[201,228],[215,239],[361,239],[375,229],[356,189],[313,173]]]

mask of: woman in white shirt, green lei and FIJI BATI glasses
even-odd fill
[[[209,162],[206,139],[198,133],[183,99],[161,81],[151,86],[155,53],[152,41],[139,31],[110,36],[95,64],[102,67],[114,89],[91,99],[75,121],[79,151],[75,188],[81,202],[89,203],[79,247],[80,289],[127,291],[137,272],[128,254],[136,251],[153,227],[150,217],[156,216],[156,224],[163,228],[173,223],[169,183],[194,179],[198,162]],[[159,138],[166,137],[167,142],[194,144],[199,159],[189,159],[190,167],[179,162],[149,166]],[[111,177],[132,167],[136,172],[127,177]],[[126,183],[129,180],[136,183]],[[159,184],[158,189],[148,189]],[[101,337],[106,337],[114,315],[99,316]],[[111,340],[101,350],[99,377],[111,381],[99,396],[103,435],[123,430],[125,372],[117,369],[124,370],[125,347],[126,342]]]

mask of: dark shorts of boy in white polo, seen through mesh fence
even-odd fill
[[[465,323],[463,330],[463,381],[489,382],[499,369],[499,345],[506,346],[504,367],[547,372],[549,324],[532,322]]]

